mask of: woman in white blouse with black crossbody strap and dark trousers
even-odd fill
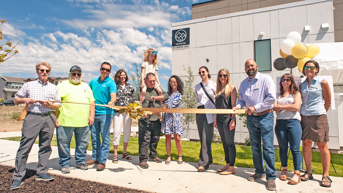
[[[206,66],[199,68],[199,75],[202,81],[195,86],[195,95],[198,109],[215,109],[214,98],[216,83],[211,80],[209,69]],[[212,138],[213,122],[215,114],[196,114],[196,122],[200,138],[200,154],[198,172],[205,171],[213,164],[212,160]]]

